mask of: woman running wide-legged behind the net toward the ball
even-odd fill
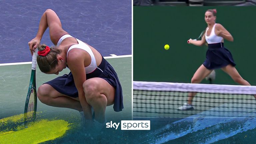
[[[213,70],[221,68],[224,72],[229,74],[236,83],[250,86],[250,84],[239,75],[235,68],[236,64],[231,53],[224,47],[224,39],[228,41],[234,41],[234,39],[221,24],[215,23],[216,13],[217,11],[215,9],[209,9],[205,12],[204,19],[208,27],[206,28],[202,40],[188,40],[189,44],[194,44],[196,46],[202,46],[205,42],[208,44],[206,59],[195,72],[191,79],[191,83],[200,83]],[[178,110],[193,110],[192,100],[195,95],[196,93],[189,93],[188,102],[184,103]],[[254,97],[256,98],[256,96]]]

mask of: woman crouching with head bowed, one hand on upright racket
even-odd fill
[[[48,27],[54,47],[40,45]],[[122,111],[122,87],[113,67],[92,46],[63,30],[53,10],[43,13],[36,37],[28,45],[31,54],[38,48],[37,63],[43,73],[58,75],[66,67],[71,71],[38,88],[42,103],[78,110],[89,122],[93,108],[98,123],[105,122],[106,106],[114,105],[114,111]]]

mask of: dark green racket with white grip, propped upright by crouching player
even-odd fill
[[[28,87],[28,94],[24,109],[24,122],[32,122],[36,118],[36,107],[37,107],[37,93],[36,93],[36,57],[37,49],[32,56],[32,71],[30,77],[30,83]]]

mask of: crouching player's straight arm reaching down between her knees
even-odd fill
[[[84,59],[85,58],[83,53],[76,50],[70,50],[68,53],[67,63],[74,77],[75,85],[78,90],[79,100],[82,105],[85,118],[92,120],[91,106],[87,103],[83,90],[83,83],[86,80]]]

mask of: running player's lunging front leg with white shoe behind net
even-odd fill
[[[205,77],[207,77],[212,70],[207,69],[204,65],[201,65],[193,75],[191,79],[191,83],[200,83]],[[190,110],[193,109],[192,107],[192,100],[196,95],[195,92],[188,93],[188,102],[184,103],[183,106],[179,107],[178,110]]]

